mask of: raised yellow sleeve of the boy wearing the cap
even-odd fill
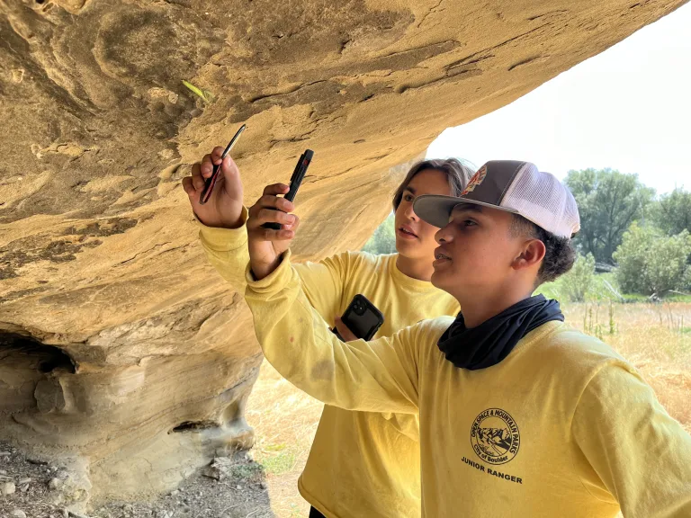
[[[245,299],[265,358],[312,397],[364,412],[417,413],[417,327],[344,344],[311,307],[290,252],[261,281],[247,270]]]

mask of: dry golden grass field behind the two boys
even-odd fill
[[[691,304],[615,304],[613,335],[606,303],[571,304],[564,313],[567,322],[581,330],[586,317],[587,330],[602,335],[632,362],[669,414],[691,433]],[[267,471],[274,513],[280,518],[307,516],[309,506],[298,493],[297,480],[322,405],[265,362],[247,407],[247,421],[256,430],[255,459]]]

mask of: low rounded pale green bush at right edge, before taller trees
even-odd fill
[[[691,235],[665,236],[659,228],[633,223],[615,252],[616,279],[626,293],[663,294],[685,288]]]

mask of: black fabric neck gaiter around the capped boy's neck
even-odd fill
[[[521,338],[551,320],[564,321],[559,302],[536,295],[471,329],[459,313],[437,345],[456,367],[469,371],[486,369],[504,360]]]

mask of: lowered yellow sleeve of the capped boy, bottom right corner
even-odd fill
[[[626,364],[597,371],[571,431],[583,485],[597,498],[614,496],[624,518],[691,516],[691,436]]]

